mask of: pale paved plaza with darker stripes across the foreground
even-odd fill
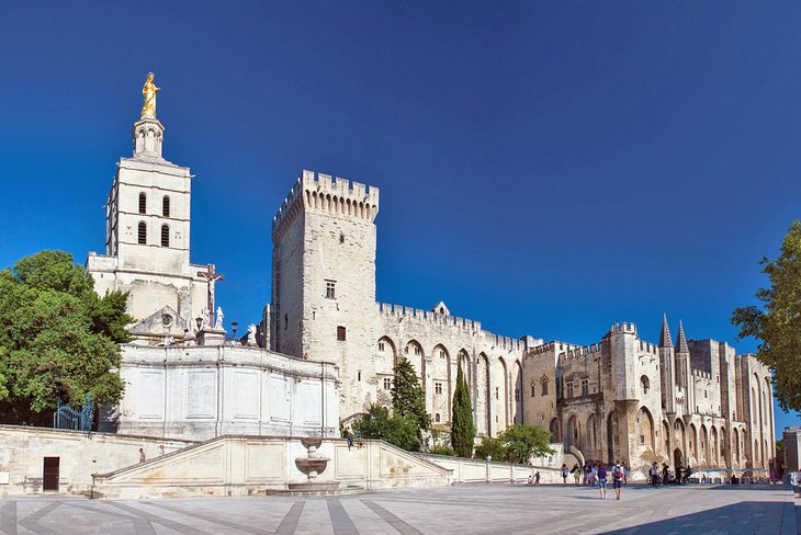
[[[586,487],[463,485],[337,498],[0,500],[0,533],[54,534],[792,534],[785,487],[628,486],[616,501]]]

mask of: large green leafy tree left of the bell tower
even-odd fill
[[[49,423],[56,400],[119,401],[127,295],[98,296],[69,253],[42,251],[0,272],[0,419]]]

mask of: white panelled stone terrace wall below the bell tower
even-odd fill
[[[123,345],[121,433],[338,436],[337,372],[260,348]]]

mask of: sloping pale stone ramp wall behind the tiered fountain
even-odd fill
[[[315,481],[340,488],[379,490],[448,486],[452,473],[382,441],[348,448],[325,440],[317,452],[329,458]],[[300,439],[222,436],[172,455],[94,478],[95,498],[147,499],[200,496],[252,496],[305,482],[295,459],[306,457]]]

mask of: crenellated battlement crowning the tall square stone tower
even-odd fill
[[[272,218],[273,241],[302,209],[325,210],[372,223],[379,214],[379,189],[304,170]]]

